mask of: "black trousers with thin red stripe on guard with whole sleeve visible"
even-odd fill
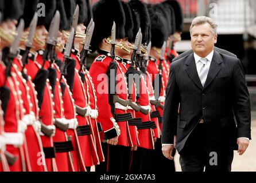
[[[131,148],[102,143],[105,162],[96,166],[95,172],[129,172]]]

